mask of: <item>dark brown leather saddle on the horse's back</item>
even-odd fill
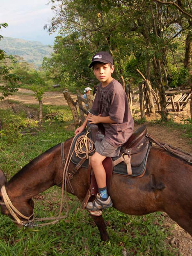
[[[93,142],[100,140],[104,136],[104,131],[102,127],[96,124],[87,125],[90,130],[88,137],[92,139]],[[86,131],[82,132],[80,135],[85,134]],[[113,173],[121,175],[129,175],[131,177],[141,177],[144,174],[147,164],[147,157],[152,145],[148,138],[145,136],[147,133],[147,126],[142,125],[136,132],[132,134],[129,140],[121,147],[121,153],[119,157],[112,157],[113,161]],[[78,136],[76,137],[78,138]],[[71,148],[71,154],[75,147]],[[79,159],[75,154],[71,158],[72,163],[76,164],[74,172],[79,168],[88,168],[88,159]],[[75,174],[75,173],[74,173]]]

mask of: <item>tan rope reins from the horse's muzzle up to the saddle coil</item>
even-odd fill
[[[70,156],[70,152],[71,152],[71,148],[72,148],[73,142],[74,142],[74,140],[75,140],[75,138],[76,138],[76,136],[78,134],[75,135],[75,137],[73,138],[73,140],[71,142],[66,162],[65,162],[65,159],[64,159],[64,152],[61,150],[61,162],[62,162],[62,164],[64,164],[63,176],[62,176],[62,181],[61,181],[62,182],[61,203],[60,203],[60,210],[59,210],[59,212],[57,214],[55,214],[53,217],[41,218],[41,219],[33,218],[32,220],[30,220],[30,218],[33,216],[34,212],[29,217],[24,216],[21,212],[19,212],[14,207],[14,205],[12,204],[9,196],[7,195],[5,186],[2,186],[1,193],[2,193],[2,197],[4,199],[4,203],[0,202],[0,204],[2,204],[2,205],[5,204],[5,206],[7,207],[7,210],[10,212],[10,214],[13,217],[13,219],[15,220],[15,221],[12,220],[13,222],[16,222],[16,223],[18,223],[18,224],[20,224],[20,225],[22,225],[24,227],[27,227],[27,226],[38,226],[38,227],[41,227],[41,226],[47,226],[47,225],[50,225],[50,224],[55,224],[58,221],[60,221],[62,219],[65,219],[67,217],[68,212],[69,212],[68,201],[67,201],[67,211],[66,211],[66,214],[61,216],[62,205],[63,205],[63,198],[64,198],[64,184],[65,184],[65,199],[67,198],[67,183],[68,183],[68,186],[69,186],[71,192],[72,193],[74,192],[74,190],[72,188],[72,185],[71,185],[71,182],[70,182],[70,180],[73,178],[73,176],[69,180],[69,177],[68,177],[68,166],[69,166],[69,164],[71,162],[71,157],[72,157],[74,152],[76,153],[76,155],[79,158],[88,158],[89,153],[92,153],[95,150],[94,149],[94,143],[92,142],[92,140],[90,140],[87,137],[89,132],[90,132],[90,130],[88,129],[85,135],[79,136],[79,138],[76,140],[75,149],[73,150],[73,152],[72,152],[72,154]],[[83,146],[85,146],[85,150],[83,150]],[[62,147],[62,144],[61,144],[61,147]],[[84,157],[80,157],[79,154],[85,154],[85,156]],[[16,213],[18,214],[19,217],[16,215]],[[25,219],[25,220],[27,220],[27,221],[20,220],[20,217]],[[42,223],[42,224],[34,224],[35,221],[47,221],[47,220],[53,220],[53,221],[48,222],[48,223]]]

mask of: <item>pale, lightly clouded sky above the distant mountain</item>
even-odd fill
[[[7,28],[0,30],[0,35],[52,45],[57,34],[49,36],[43,28],[54,17],[48,2],[49,0],[0,0],[0,23],[8,24]]]

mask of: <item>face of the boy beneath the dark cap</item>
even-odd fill
[[[103,85],[107,85],[111,82],[111,74],[114,71],[114,66],[110,67],[109,63],[98,62],[93,66],[93,73]]]

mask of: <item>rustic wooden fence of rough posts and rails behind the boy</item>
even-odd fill
[[[126,86],[125,86],[126,89]],[[156,110],[161,111],[159,103],[158,91],[156,92],[152,89],[150,82],[145,80],[138,88],[134,90],[125,90],[128,95],[129,107],[132,116],[140,116],[141,119],[145,118],[145,113],[155,113]],[[87,99],[84,99],[79,90],[77,90],[77,100],[76,102],[71,98],[68,90],[63,91],[64,97],[68,102],[68,106],[71,109],[75,125],[83,123],[85,120],[85,114],[88,114],[88,109],[92,108],[93,96],[87,94]],[[191,97],[190,90],[180,90],[180,91],[165,91],[166,95],[166,107],[168,111],[182,111],[185,105],[188,103]],[[191,100],[192,102],[192,100]],[[79,113],[77,111],[77,106],[79,107]]]

